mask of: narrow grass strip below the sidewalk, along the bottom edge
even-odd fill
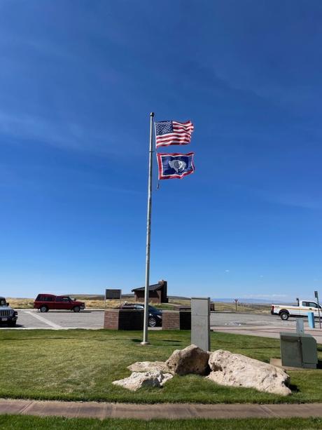
[[[195,430],[195,429],[321,429],[321,418],[269,418],[269,419],[80,419],[60,417],[27,417],[0,415],[0,429],[17,430]]]

